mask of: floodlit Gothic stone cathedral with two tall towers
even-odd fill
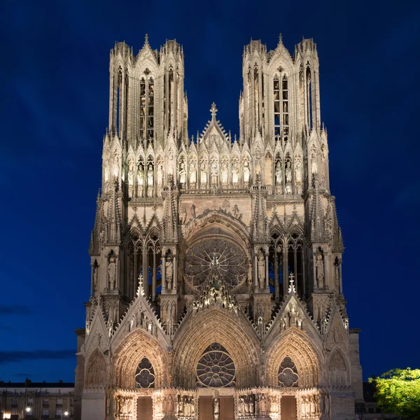
[[[239,136],[189,136],[182,46],[111,50],[76,419],[363,413],[316,44],[242,57]]]

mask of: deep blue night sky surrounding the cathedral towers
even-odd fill
[[[43,6],[40,6],[40,5]],[[176,38],[189,133],[211,102],[239,132],[250,38],[318,45],[321,118],[365,377],[420,367],[419,20],[416,1],[2,1],[0,379],[73,381],[87,248],[108,123],[109,50]]]

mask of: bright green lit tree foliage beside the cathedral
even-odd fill
[[[369,382],[375,384],[374,396],[384,412],[420,420],[420,369],[393,369]]]

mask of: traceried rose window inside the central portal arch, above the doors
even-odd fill
[[[213,343],[204,350],[197,363],[197,386],[236,386],[235,364],[221,344]]]

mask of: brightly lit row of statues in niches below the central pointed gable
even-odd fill
[[[228,160],[222,160],[220,170],[220,182],[224,188],[229,185],[229,168]],[[210,173],[209,173],[210,172]],[[200,173],[200,180],[198,180],[198,173]],[[239,186],[240,181],[240,166],[238,161],[232,162],[232,186]],[[212,159],[210,161],[210,167],[207,163],[207,159],[200,160],[200,171],[197,169],[197,163],[195,161],[190,162],[188,166],[186,162],[181,160],[179,164],[179,183],[181,188],[187,188],[187,179],[189,181],[189,188],[196,188],[197,184],[200,184],[202,188],[207,187],[208,181],[211,186],[218,186],[219,184],[219,165],[218,160]],[[242,179],[245,185],[248,185],[250,180],[250,169],[249,162],[246,160],[242,167]]]

